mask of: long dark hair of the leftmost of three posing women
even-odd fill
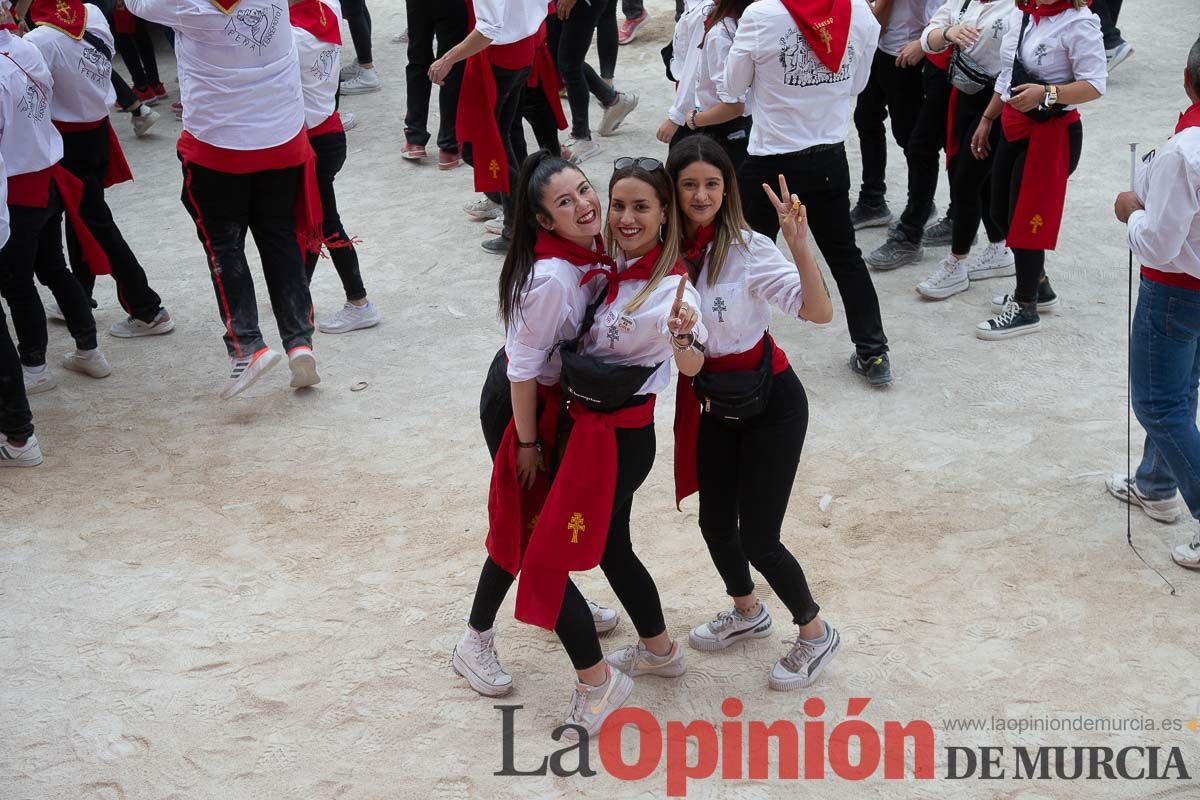
[[[542,205],[542,194],[550,180],[564,169],[574,169],[583,175],[578,167],[546,150],[533,154],[521,166],[521,176],[512,190],[512,241],[504,257],[499,281],[500,319],[505,327],[521,315],[521,295],[533,272],[533,246],[541,229],[538,215],[548,216]]]

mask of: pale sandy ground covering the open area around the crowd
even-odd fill
[[[607,184],[611,158],[661,154],[667,106],[659,48],[670,4],[623,48],[618,84],[640,109],[587,164]],[[848,697],[863,714],[928,720],[937,774],[950,745],[1178,745],[1200,771],[1200,738],[1164,734],[947,733],[962,716],[1188,720],[1200,714],[1196,577],[1169,545],[1193,523],[1134,516],[1134,540],[1163,582],[1124,543],[1124,510],[1103,474],[1124,463],[1126,251],[1112,219],[1130,139],[1144,150],[1186,106],[1178,76],[1200,25],[1194,0],[1127,4],[1138,53],[1109,96],[1085,113],[1082,164],[1050,272],[1063,297],[1038,336],[984,343],[972,326],[989,281],[943,303],[913,285],[914,267],[876,276],[896,384],[852,375],[845,321],[779,320],[775,336],[808,387],[811,426],[786,541],[845,637],[811,692],[768,692],[784,651],[770,639],[703,655],[686,676],[640,682],[634,700],[660,718],[803,717],[826,700],[828,727]],[[350,97],[361,119],[338,179],[349,230],[362,237],[366,283],[385,315],[376,330],[319,336],[324,377],[287,389],[280,369],[234,402],[217,392],[227,362],[211,284],[179,204],[169,112],[154,136],[118,130],[138,181],[112,205],[178,323],[150,341],[103,337],[114,373],[90,381],[59,371],[34,398],[46,464],[0,475],[0,799],[359,800],[466,796],[661,796],[646,782],[494,777],[500,718],[449,668],[484,557],[490,463],[476,403],[500,342],[481,225],[460,206],[467,170],[438,173],[398,158],[404,108],[398,0],[373,2],[382,94]],[[1152,18],[1153,14],[1153,18]],[[1160,24],[1174,20],[1177,24]],[[346,56],[348,58],[348,56]],[[173,62],[164,56],[168,73]],[[176,86],[168,79],[172,92]],[[596,112],[593,110],[598,116]],[[857,145],[851,143],[857,173]],[[902,204],[902,161],[892,160]],[[940,206],[946,204],[944,181]],[[882,234],[862,236],[866,248]],[[328,263],[318,313],[340,305]],[[101,283],[103,326],[119,318]],[[838,302],[835,300],[835,302]],[[263,305],[264,319],[269,309]],[[274,323],[264,327],[275,339]],[[52,353],[65,351],[65,329]],[[356,381],[365,391],[353,392]],[[671,491],[671,396],[659,405],[659,459],[635,506],[635,542],[662,593],[671,633],[722,607],[722,590],[691,500]],[[1140,446],[1135,434],[1134,457]],[[832,495],[827,511],[818,501]],[[599,573],[586,593],[613,603]],[[772,595],[764,591],[772,603]],[[776,609],[781,612],[781,609]],[[624,621],[606,646],[632,640]],[[500,614],[499,649],[516,679],[517,765],[553,750],[571,692],[552,636]],[[595,764],[594,764],[595,765]],[[1198,796],[1192,782],[823,781],[821,798]],[[692,783],[690,796],[791,796],[763,782]]]

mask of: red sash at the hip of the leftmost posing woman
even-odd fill
[[[563,390],[538,384],[538,399],[542,402],[538,439],[548,459],[557,446]],[[487,554],[509,575],[515,576],[521,570],[529,536],[548,492],[550,473],[538,473],[529,489],[517,481],[517,427],[509,420],[492,464],[492,486],[487,492]]]

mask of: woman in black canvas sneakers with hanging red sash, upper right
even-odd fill
[[[1016,289],[992,300],[1000,313],[976,326],[997,341],[1033,333],[1039,312],[1057,305],[1045,278],[1045,251],[1057,245],[1067,178],[1079,164],[1084,126],[1075,109],[1108,85],[1100,22],[1087,0],[1019,0],[1001,47],[996,92],[971,140],[991,152],[991,127],[1002,136],[991,173],[991,213],[1007,231]]]

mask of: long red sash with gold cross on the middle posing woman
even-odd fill
[[[516,618],[553,628],[566,578],[600,564],[617,492],[617,429],[654,421],[654,397],[608,414],[571,405],[575,426],[521,564]]]

